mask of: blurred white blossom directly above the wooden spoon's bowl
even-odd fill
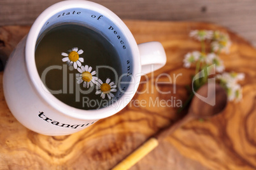
[[[215,64],[217,72],[223,72],[225,70],[223,61],[215,53],[210,53],[206,56],[206,63],[208,65]]]

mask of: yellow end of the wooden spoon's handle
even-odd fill
[[[150,151],[157,147],[158,141],[156,138],[150,138],[141,147],[136,149],[132,154],[126,157],[122,162],[113,167],[112,170],[126,170],[136,164],[139,160],[145,157]]]

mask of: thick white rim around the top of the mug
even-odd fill
[[[43,13],[41,13],[38,18],[36,18],[35,22],[32,24],[31,29],[29,30],[29,34],[27,35],[27,42],[25,44],[25,65],[27,68],[27,73],[29,75],[29,79],[31,81],[32,87],[38,93],[39,98],[43,98],[43,100],[50,105],[50,107],[55,108],[60,113],[68,115],[70,117],[74,117],[76,119],[84,119],[84,120],[94,120],[94,119],[103,119],[105,117],[109,117],[113,114],[116,114],[122,108],[124,108],[129,101],[132,100],[132,97],[135,95],[138,86],[134,84],[138,84],[140,81],[141,76],[133,76],[134,84],[129,84],[127,91],[133,91],[132,93],[124,93],[118,101],[120,102],[120,106],[116,109],[111,107],[111,105],[117,103],[112,103],[108,107],[99,108],[96,110],[83,110],[80,108],[75,108],[63,103],[62,101],[58,100],[53,96],[50,92],[46,92],[45,85],[41,82],[41,78],[38,74],[38,70],[36,69],[36,62],[35,62],[35,48],[36,48],[36,41],[38,39],[38,35],[40,30],[42,29],[45,22],[56,15],[60,11],[68,10],[71,8],[82,8],[85,10],[92,10],[101,13],[102,15],[106,16],[110,19],[115,25],[122,31],[122,34],[128,41],[128,44],[131,48],[132,53],[132,67],[134,75],[141,72],[141,60],[139,56],[139,49],[138,45],[131,34],[131,31],[125,25],[125,23],[112,11],[108,10],[108,8],[102,6],[101,4],[93,3],[91,1],[61,1],[59,3],[55,3],[52,6],[46,8]],[[125,98],[129,98],[127,102]],[[51,113],[52,114],[52,113]]]

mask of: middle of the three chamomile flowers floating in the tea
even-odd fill
[[[80,76],[77,77],[77,83],[81,84],[83,82],[83,88],[89,88],[89,86],[93,86],[96,84],[97,77],[93,76],[96,75],[96,71],[92,72],[92,67],[89,67],[88,65],[81,66],[77,68],[78,72],[80,72]]]

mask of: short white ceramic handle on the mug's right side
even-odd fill
[[[164,67],[166,52],[160,42],[152,41],[138,44],[141,56],[141,73],[148,74]]]

